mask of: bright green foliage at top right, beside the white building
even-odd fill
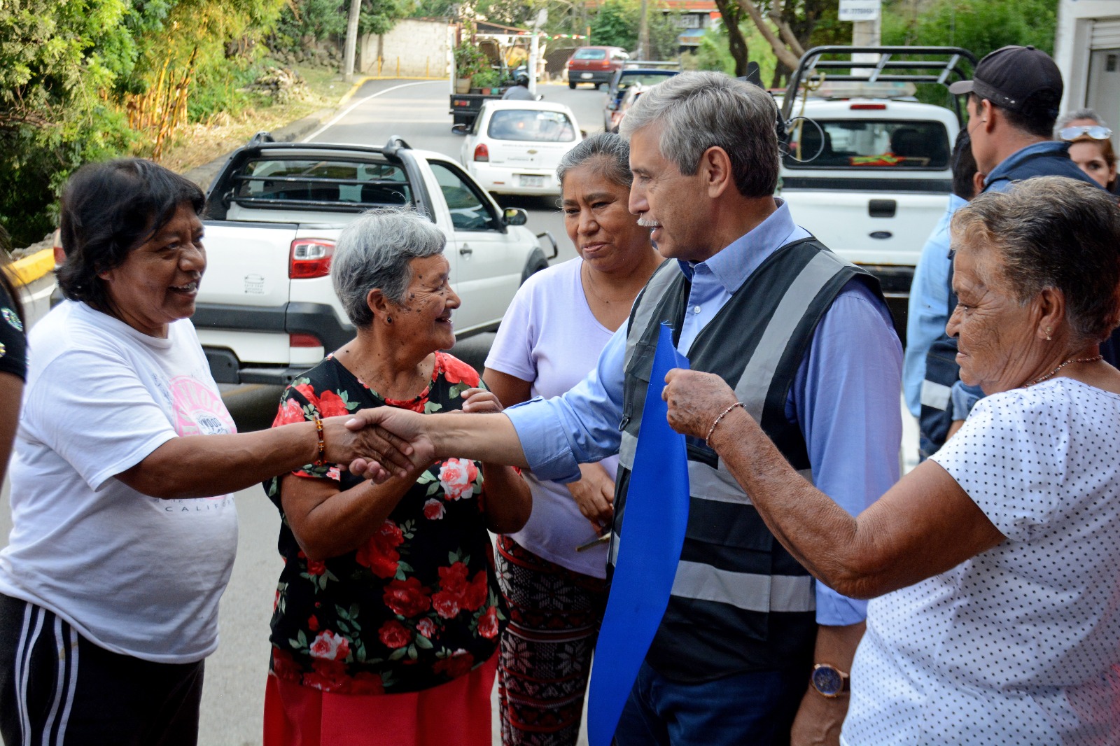
[[[888,0],[883,43],[963,47],[978,59],[1008,44],[1053,54],[1056,24],[1057,0]]]

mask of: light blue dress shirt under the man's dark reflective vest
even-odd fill
[[[692,276],[678,344],[683,354],[767,257],[809,235],[793,223],[788,208],[775,202],[776,212],[711,259],[679,262],[681,271]],[[624,324],[596,367],[571,391],[505,410],[538,477],[571,482],[579,478],[580,463],[618,451],[625,353]],[[890,314],[861,282],[849,282],[813,335],[785,413],[809,446],[816,487],[852,515],[898,481],[900,385],[902,345]],[[819,624],[856,624],[866,615],[866,602],[816,584]]]

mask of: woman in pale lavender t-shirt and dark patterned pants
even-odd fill
[[[597,134],[557,169],[564,226],[579,258],[531,277],[502,319],[483,379],[503,407],[556,397],[584,380],[662,261],[627,208],[629,147]],[[510,606],[498,663],[502,740],[575,744],[591,650],[606,604],[607,545],[617,458],[580,467],[568,485],[526,475],[533,512],[498,537],[498,580]],[[582,549],[577,549],[577,548]]]

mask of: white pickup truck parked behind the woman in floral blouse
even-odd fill
[[[272,142],[260,133],[214,179],[204,215],[207,269],[195,315],[220,383],[289,383],[354,336],[330,283],[335,241],[364,209],[412,206],[447,236],[463,298],[458,337],[497,328],[521,283],[548,267],[547,233],[523,227],[454,159],[384,147]]]

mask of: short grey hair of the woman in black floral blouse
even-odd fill
[[[374,288],[393,302],[403,302],[412,281],[409,262],[442,253],[446,242],[442,231],[411,208],[370,209],[343,229],[330,280],[354,326],[373,323],[366,297]]]

